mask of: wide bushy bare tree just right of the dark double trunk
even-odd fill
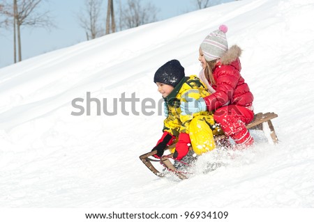
[[[142,24],[156,22],[157,8],[151,3],[142,4],[140,0],[128,0],[120,6],[121,29],[130,29]]]

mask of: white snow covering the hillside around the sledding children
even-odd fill
[[[313,208],[313,11],[313,0],[234,1],[1,68],[0,207]],[[154,73],[176,58],[198,74],[200,42],[220,24],[244,50],[255,113],[278,113],[280,141],[253,132],[254,148],[213,151],[188,180],[161,179],[138,158],[163,127]],[[100,115],[94,100],[87,116],[87,92]],[[75,98],[83,115],[71,115]],[[208,161],[224,165],[203,174]]]

